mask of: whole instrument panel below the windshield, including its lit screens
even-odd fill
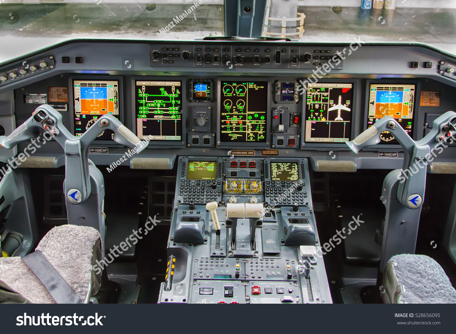
[[[48,103],[62,112],[64,124],[76,136],[99,115],[114,115],[140,139],[149,140],[143,155],[175,159],[233,151],[234,156],[310,157],[314,169],[319,160],[349,160],[358,168],[399,167],[400,162],[385,158],[403,156],[388,132],[379,145],[358,156],[345,142],[385,115],[419,140],[436,116],[454,109],[456,77],[429,67],[442,58],[454,60],[437,51],[399,46],[402,56],[396,59],[393,54],[398,53],[392,50],[398,46],[363,45],[343,56],[342,46],[282,43],[73,41],[31,56],[52,54],[53,67],[8,79],[0,92],[14,96],[16,124]],[[114,53],[93,56],[106,45],[130,65],[113,65],[118,57]],[[140,56],[132,60],[127,57],[132,52]],[[62,63],[62,57],[69,62]],[[419,61],[412,61],[414,57]],[[15,64],[1,70],[11,66]],[[93,147],[103,148],[96,152],[104,152],[93,153],[94,162],[107,163],[111,154],[122,153],[112,136],[106,131],[93,142]],[[52,145],[37,154],[40,151],[60,154]]]

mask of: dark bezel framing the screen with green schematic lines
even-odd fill
[[[181,105],[182,105],[182,136],[181,140],[151,140],[149,142],[149,146],[169,146],[169,147],[176,147],[185,145],[186,141],[186,113],[187,113],[187,79],[185,76],[132,76],[130,80],[130,98],[131,98],[131,122],[133,133],[136,135],[138,129],[136,127],[136,101],[135,101],[135,87],[136,81],[181,81],[182,87],[182,98],[181,98]]]

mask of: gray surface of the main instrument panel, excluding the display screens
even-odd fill
[[[280,45],[279,45],[280,44]],[[357,44],[355,43],[355,46]],[[179,61],[173,61],[172,63],[163,63],[163,53],[168,54],[170,51],[163,51],[163,48],[169,50],[173,49],[172,54],[178,54],[177,58]],[[210,64],[203,61],[204,66],[194,66],[194,56],[191,55],[189,60],[183,60],[182,54],[185,50],[196,50],[201,48],[204,57],[206,54],[210,54]],[[16,79],[9,79],[5,83],[0,85],[0,93],[4,96],[12,95],[13,92],[16,96],[14,105],[10,105],[7,108],[2,108],[2,114],[9,114],[15,112],[16,124],[21,124],[23,120],[28,118],[30,113],[38,105],[26,104],[23,100],[24,94],[46,94],[47,88],[51,86],[65,87],[67,86],[70,91],[72,87],[68,87],[68,79],[72,76],[78,75],[85,76],[88,79],[93,77],[112,77],[122,76],[123,79],[123,101],[124,101],[124,112],[121,115],[124,125],[135,132],[135,116],[134,111],[131,110],[130,106],[133,105],[134,97],[130,93],[132,91],[132,79],[140,76],[181,76],[185,83],[190,86],[190,82],[193,79],[207,79],[212,82],[212,101],[191,101],[189,91],[185,89],[183,91],[183,116],[184,121],[187,118],[185,124],[185,136],[183,136],[184,144],[172,143],[160,143],[161,145],[151,144],[142,154],[161,154],[161,151],[157,149],[167,148],[166,153],[176,156],[182,155],[200,155],[200,156],[224,156],[228,155],[228,150],[220,149],[217,147],[218,141],[218,113],[219,113],[219,102],[216,98],[217,82],[223,80],[226,77],[239,78],[239,80],[253,79],[258,80],[261,77],[268,78],[271,83],[271,89],[268,96],[268,105],[270,110],[268,112],[274,115],[275,111],[280,112],[280,108],[288,108],[286,113],[292,115],[301,115],[300,127],[288,127],[284,131],[279,131],[274,123],[274,119],[271,120],[268,130],[271,132],[270,138],[268,138],[269,149],[277,150],[279,157],[311,157],[312,161],[317,160],[328,160],[331,163],[336,160],[349,160],[353,161],[357,169],[362,168],[398,168],[401,166],[402,150],[398,146],[390,147],[375,147],[373,149],[366,148],[363,152],[360,152],[358,156],[352,152],[347,151],[347,148],[343,144],[329,143],[329,144],[309,144],[304,143],[302,135],[304,133],[304,112],[305,112],[305,96],[299,95],[297,103],[280,103],[276,100],[275,85],[278,81],[280,82],[296,82],[305,81],[311,77],[316,66],[308,66],[308,62],[302,58],[306,53],[316,56],[321,56],[321,51],[331,51],[333,55],[337,51],[342,52],[344,48],[349,50],[349,45],[307,45],[305,43],[296,42],[220,42],[220,41],[204,41],[203,43],[196,42],[172,42],[172,43],[154,43],[153,41],[139,42],[139,41],[87,41],[87,40],[73,40],[62,45],[57,45],[47,50],[37,52],[33,55],[22,57],[16,61],[11,61],[8,64],[4,64],[0,67],[1,71],[9,71],[9,69],[16,68],[21,65],[23,61],[31,61],[44,56],[53,56],[55,60],[55,67],[40,73],[36,73],[32,76],[24,76]],[[179,49],[179,51],[175,51]],[[215,51],[217,50],[218,51]],[[224,51],[229,49],[228,51]],[[240,49],[240,51],[236,51]],[[259,51],[255,51],[258,49]],[[269,49],[269,52],[266,50]],[[156,62],[150,61],[151,50],[157,50],[160,52],[160,65],[156,65]],[[210,51],[207,51],[210,50]],[[296,50],[296,52],[293,52]],[[275,53],[280,51],[281,59],[280,64],[275,62]],[[285,52],[283,52],[285,51]],[[301,52],[302,51],[302,52]],[[234,65],[233,68],[226,66],[213,65],[213,57],[220,53],[220,62],[233,61],[236,55],[243,57],[242,64]],[[228,58],[223,58],[224,54],[227,54]],[[271,55],[272,61],[269,64],[264,63],[265,57]],[[100,56],[102,55],[102,56]],[[135,55],[134,57],[131,55]],[[261,58],[259,64],[254,63],[254,56],[257,55]],[[62,63],[62,57],[69,57],[69,63]],[[297,57],[297,63],[292,64],[290,60],[293,57]],[[75,63],[75,57],[82,57],[82,63]],[[132,58],[133,57],[133,58]],[[204,58],[203,57],[203,58]],[[346,59],[343,61],[343,68],[334,68],[332,71],[325,73],[322,77],[321,82],[329,81],[354,81],[355,82],[355,96],[357,98],[356,106],[352,116],[352,134],[351,139],[356,137],[359,133],[365,129],[365,119],[367,110],[365,107],[365,95],[368,90],[367,80],[368,78],[375,77],[383,82],[389,82],[397,79],[401,79],[404,82],[417,82],[420,84],[420,91],[438,91],[440,92],[440,106],[420,106],[420,96],[415,97],[415,131],[414,139],[418,140],[422,138],[426,132],[429,131],[429,126],[426,123],[432,124],[428,121],[432,119],[432,116],[443,114],[448,110],[453,109],[451,102],[451,96],[454,95],[456,80],[451,76],[442,75],[439,73],[440,61],[446,61],[446,64],[456,63],[456,60],[451,56],[446,55],[442,52],[438,52],[435,49],[424,45],[398,45],[398,44],[383,44],[375,45],[362,43],[356,51],[348,56],[345,55]],[[247,61],[247,58],[250,58]],[[128,60],[128,66],[125,65],[125,60]],[[412,62],[418,62],[418,68],[411,66]],[[325,60],[327,62],[326,53]],[[425,62],[432,62],[430,68],[425,67]],[[152,64],[152,66],[151,66]],[[158,63],[157,63],[158,64]],[[181,64],[185,64],[181,65]],[[286,66],[285,66],[286,64]],[[130,66],[131,65],[131,66]],[[209,66],[210,65],[210,66]],[[446,66],[446,65],[445,65]],[[166,71],[165,71],[166,70]],[[165,72],[164,72],[165,71]],[[96,75],[94,75],[94,72]],[[321,76],[321,75],[320,75]],[[346,79],[342,79],[342,77]],[[456,76],[455,76],[456,78]],[[313,79],[312,79],[313,80]],[[185,86],[184,86],[185,87]],[[420,91],[417,91],[419,94]],[[71,94],[69,94],[71,97]],[[4,98],[2,101],[6,103],[11,101],[10,98]],[[6,105],[5,105],[6,106]],[[68,102],[68,111],[62,111],[63,122],[70,128],[72,121],[72,103]],[[205,115],[210,118],[206,124],[209,127],[194,127],[194,108],[197,110],[207,110],[208,113]],[[199,109],[198,109],[199,108]],[[201,109],[202,108],[202,109]],[[428,116],[429,115],[429,116]],[[206,125],[205,124],[205,125]],[[285,124],[286,125],[286,124]],[[207,131],[207,129],[209,131]],[[287,131],[288,130],[288,131]],[[194,139],[192,139],[194,138]],[[295,142],[294,146],[287,145]],[[198,142],[198,144],[193,144]],[[206,144],[204,144],[206,142]],[[297,143],[300,143],[299,146]],[[285,145],[280,145],[284,143]],[[304,146],[302,144],[304,143]],[[24,143],[18,147],[19,150],[26,147],[27,143]],[[59,160],[62,155],[62,150],[56,143],[50,142],[46,147],[38,148],[36,156],[47,156],[52,155]],[[163,145],[164,144],[164,145]],[[119,159],[125,152],[123,147],[119,147],[114,143],[94,143],[93,147],[108,147],[107,154],[91,154],[90,158],[96,164],[109,165]],[[257,156],[261,154],[260,149],[264,149],[264,145],[244,145],[245,148],[252,147],[256,149]],[[297,147],[300,147],[299,149]],[[266,147],[267,148],[267,147]],[[224,151],[227,152],[224,152]],[[443,152],[439,159],[445,162],[451,162],[454,160],[453,156],[454,148],[450,147]],[[223,154],[221,154],[223,151]],[[379,157],[378,152],[398,152],[398,157]],[[122,162],[124,165],[129,165],[130,162]],[[312,164],[314,168],[315,164]]]

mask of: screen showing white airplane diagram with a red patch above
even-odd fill
[[[353,91],[352,83],[307,84],[306,142],[350,140]]]

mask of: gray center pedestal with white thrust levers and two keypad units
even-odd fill
[[[332,302],[306,158],[180,157],[178,166],[159,303]]]

